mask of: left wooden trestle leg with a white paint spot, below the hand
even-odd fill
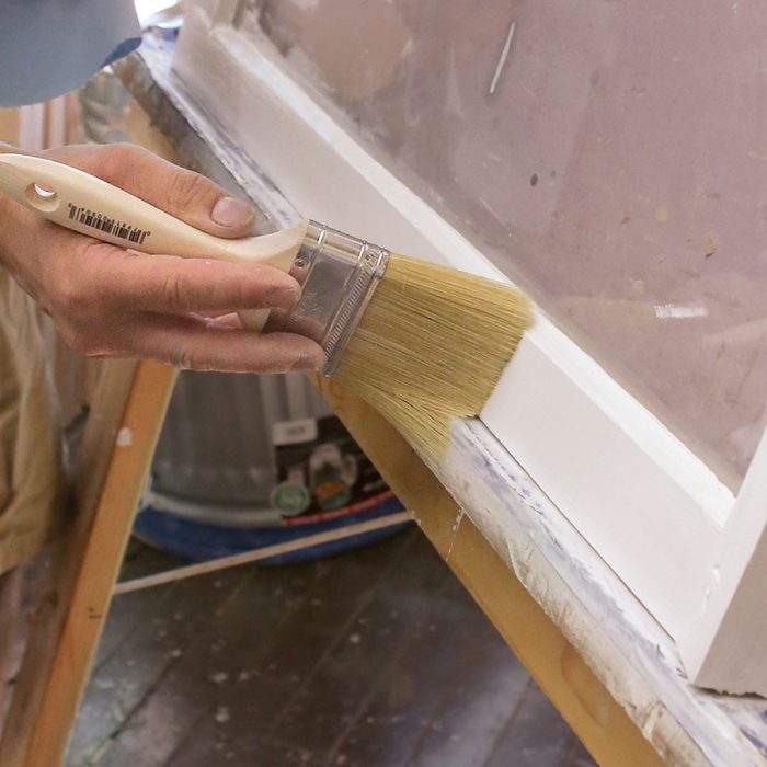
[[[175,370],[107,362],[82,446],[77,515],[50,558],[0,765],[59,767],[173,391]]]

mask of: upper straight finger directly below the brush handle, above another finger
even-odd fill
[[[88,289],[112,309],[163,313],[217,312],[279,307],[298,299],[298,283],[263,264],[125,252],[100,242],[83,247]]]

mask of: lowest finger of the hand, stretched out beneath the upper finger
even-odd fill
[[[288,373],[317,370],[322,348],[289,333],[256,335],[225,319],[142,314],[124,328],[121,347],[108,354],[145,357],[191,370]]]

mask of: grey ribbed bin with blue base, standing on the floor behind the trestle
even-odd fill
[[[306,377],[183,371],[134,530],[170,553],[203,560],[401,511]],[[317,559],[401,527],[265,562]]]

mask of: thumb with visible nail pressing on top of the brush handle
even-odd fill
[[[213,181],[130,144],[71,147],[49,153],[140,197],[196,229],[216,237],[244,237],[255,224],[253,208]]]

